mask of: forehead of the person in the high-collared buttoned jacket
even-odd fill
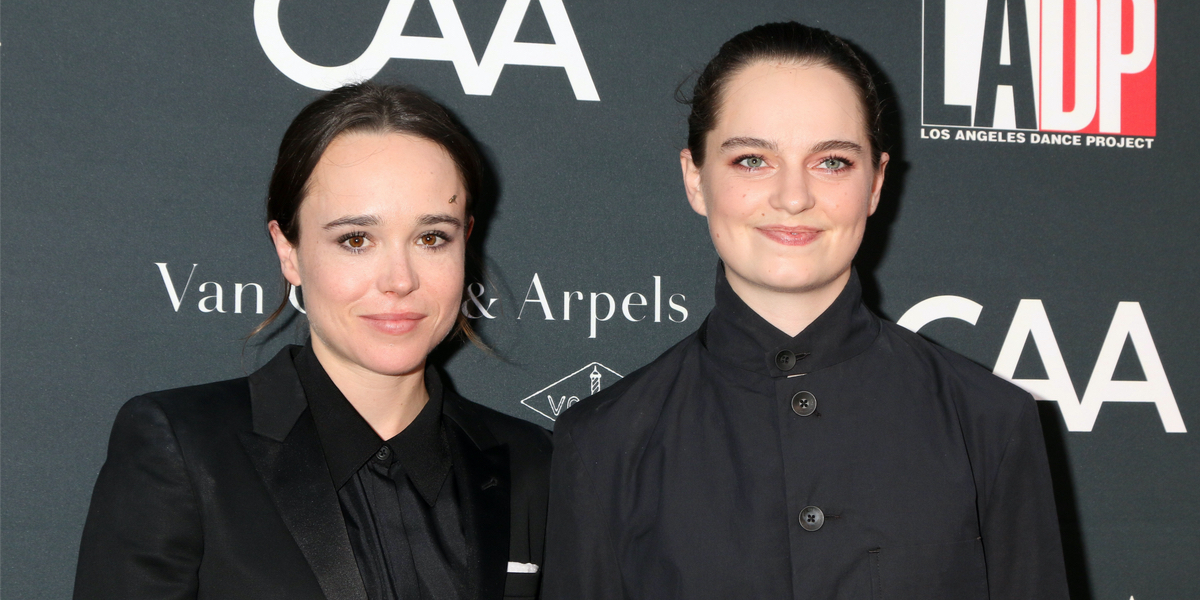
[[[755,62],[730,78],[714,133],[784,143],[847,139],[868,146],[862,102],[850,80],[826,66],[786,61]]]

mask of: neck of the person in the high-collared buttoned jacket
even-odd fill
[[[828,308],[850,281],[850,269],[806,290],[780,290],[751,283],[725,266],[725,278],[746,306],[780,331],[796,337]]]

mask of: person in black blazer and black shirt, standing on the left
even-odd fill
[[[536,596],[548,434],[427,365],[466,326],[480,169],[414,90],[350,85],[296,116],[268,229],[310,340],[250,377],[125,404],[74,598]]]

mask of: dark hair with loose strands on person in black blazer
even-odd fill
[[[292,121],[280,142],[280,154],[266,192],[266,222],[276,221],[293,245],[300,241],[300,205],[308,194],[308,180],[325,149],[335,138],[350,132],[403,133],[428,139],[454,160],[467,198],[467,216],[474,214],[482,186],[482,160],[467,131],[442,104],[403,85],[362,82],[344,85],[317,98]],[[467,253],[473,260],[472,252]],[[472,272],[468,265],[467,272]],[[466,283],[466,282],[464,282]],[[251,336],[266,329],[287,308],[292,284],[283,280],[283,299]],[[458,314],[457,331],[481,343],[467,319]]]

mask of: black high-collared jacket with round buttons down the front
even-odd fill
[[[696,334],[563,413],[542,596],[1067,598],[1034,401],[860,294],[790,337],[719,272]]]

